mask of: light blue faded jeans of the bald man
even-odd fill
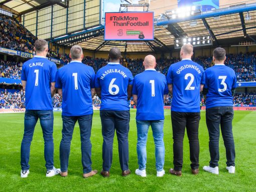
[[[139,169],[146,169],[147,163],[147,139],[149,126],[151,125],[154,142],[155,142],[155,157],[156,157],[156,169],[162,171],[165,164],[165,144],[164,144],[164,120],[158,121],[140,121],[137,120],[137,153]]]

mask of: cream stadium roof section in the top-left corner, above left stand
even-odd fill
[[[0,8],[8,8],[8,11],[20,16],[55,4],[67,7],[68,2],[62,2],[60,0],[0,0]]]

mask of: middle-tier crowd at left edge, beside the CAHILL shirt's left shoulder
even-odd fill
[[[20,79],[22,63],[0,60],[0,77]]]

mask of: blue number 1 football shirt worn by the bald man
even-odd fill
[[[134,78],[133,94],[138,95],[136,120],[163,120],[164,95],[168,94],[165,75],[148,69]]]

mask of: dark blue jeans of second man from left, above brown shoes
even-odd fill
[[[76,121],[80,127],[83,173],[91,172],[91,124],[92,114],[84,116],[62,116],[63,129],[60,142],[60,169],[68,170],[70,144]]]

